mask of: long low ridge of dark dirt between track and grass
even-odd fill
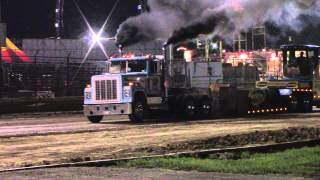
[[[241,147],[250,144],[285,143],[300,140],[319,139],[318,128],[289,128],[279,131],[253,132],[241,135],[227,135],[206,140],[168,144],[163,147],[142,148],[137,151],[147,153],[164,154],[169,152],[195,151],[215,148]]]

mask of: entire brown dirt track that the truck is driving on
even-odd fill
[[[136,154],[135,150],[255,131],[320,128],[319,117],[315,113],[148,124],[131,124],[123,117],[113,117],[98,125],[88,123],[81,115],[2,117],[0,169],[145,155]],[[14,137],[17,135],[21,137]]]

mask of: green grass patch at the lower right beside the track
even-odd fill
[[[244,153],[237,160],[156,158],[133,160],[121,166],[202,172],[314,176],[320,174],[320,146],[268,154]]]

